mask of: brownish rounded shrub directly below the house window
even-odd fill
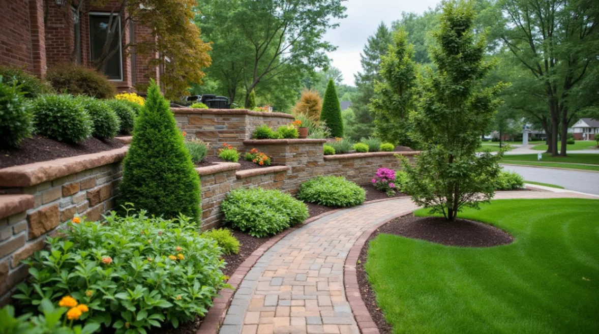
[[[61,93],[87,95],[96,99],[111,99],[116,93],[114,85],[103,74],[72,63],[50,68],[46,80]]]

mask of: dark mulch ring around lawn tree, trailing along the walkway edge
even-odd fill
[[[444,218],[407,215],[395,218],[379,227],[370,235],[360,251],[359,262],[356,265],[356,275],[362,300],[368,308],[374,323],[379,327],[380,334],[389,334],[392,328],[376,303],[376,294],[370,286],[370,282],[368,282],[368,274],[364,269],[364,263],[368,259],[370,241],[376,238],[379,233],[401,235],[407,238],[459,247],[493,247],[510,244],[514,240],[512,236],[503,230],[478,221],[465,219],[448,223]]]

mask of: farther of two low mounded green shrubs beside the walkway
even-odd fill
[[[362,204],[366,192],[344,177],[315,177],[299,186],[298,199],[327,207],[353,207]]]

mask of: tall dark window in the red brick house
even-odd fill
[[[89,41],[90,54],[92,62],[102,56],[102,49],[108,37],[108,22],[110,15],[114,15],[113,19],[117,19],[117,29],[114,33],[114,38],[110,43],[110,50],[116,51],[110,59],[104,63],[102,71],[110,80],[123,80],[123,57],[122,43],[120,40],[120,16],[111,13],[90,13],[89,14]],[[114,22],[114,21],[113,21]]]

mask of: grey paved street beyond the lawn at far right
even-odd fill
[[[503,165],[507,171],[517,172],[524,180],[556,184],[568,190],[599,195],[599,173]]]

